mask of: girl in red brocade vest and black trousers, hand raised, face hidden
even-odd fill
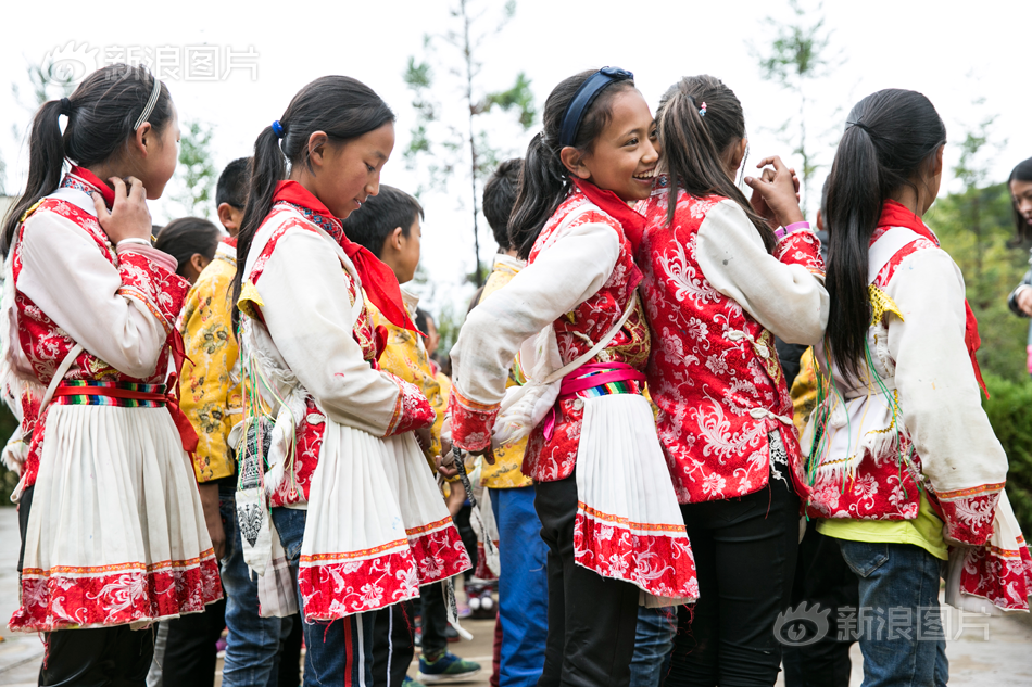
[[[773,338],[815,343],[823,332],[819,242],[779,158],[746,179],[753,205],[739,190],[745,119],[720,80],[675,84],[657,120],[669,176],[644,204],[638,252],[658,342],[649,390],[700,593],[681,611],[667,684],[773,685],[806,493]]]

